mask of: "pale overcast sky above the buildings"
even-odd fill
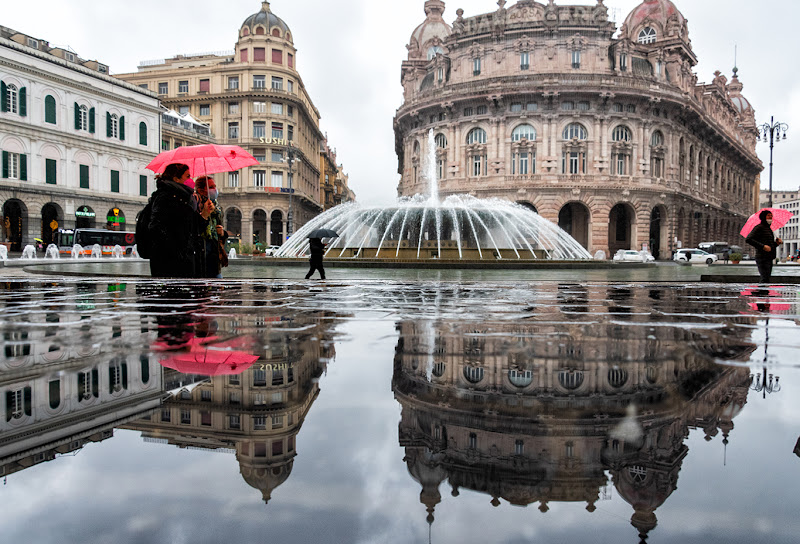
[[[514,2],[509,2],[509,7]],[[557,2],[593,4],[593,0]],[[621,24],[638,0],[606,0]],[[800,73],[795,68],[790,0],[675,0],[689,21],[700,60],[700,81],[715,70],[731,77],[738,45],[744,95],[759,123],[771,115],[788,123],[789,139],[775,148],[773,188],[797,189],[800,168]],[[402,102],[400,63],[411,32],[425,19],[424,0],[274,0],[272,11],[294,34],[297,67],[322,115],[321,128],[350,184],[364,203],[391,202],[397,189],[392,119]],[[444,18],[497,9],[495,0],[447,0]],[[38,0],[4,2],[0,24],[82,58],[108,64],[112,74],[132,72],[142,60],[179,53],[233,50],[242,22],[258,0]],[[768,185],[769,146],[760,144],[762,186]]]

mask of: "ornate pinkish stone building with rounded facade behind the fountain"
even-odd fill
[[[740,242],[762,170],[754,110],[736,69],[698,83],[675,5],[645,0],[617,29],[603,0],[506,3],[450,25],[425,2],[394,121],[399,194],[427,192],[432,131],[442,197],[518,202],[592,252]]]

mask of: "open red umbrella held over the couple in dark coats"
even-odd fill
[[[238,145],[190,145],[160,153],[146,166],[160,174],[172,163],[182,163],[189,167],[192,177],[200,177],[218,172],[233,172],[246,166],[254,166],[258,161]]]

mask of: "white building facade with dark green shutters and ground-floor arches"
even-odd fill
[[[154,187],[158,98],[46,41],[0,27],[2,241],[125,228]],[[115,213],[116,212],[116,213]]]

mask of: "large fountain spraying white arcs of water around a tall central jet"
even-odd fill
[[[444,260],[590,260],[574,238],[539,214],[498,198],[451,195],[441,200],[436,179],[436,142],[428,133],[424,179],[430,194],[398,199],[390,207],[348,203],[316,217],[285,243],[277,257],[309,252],[318,228],[339,234],[328,257]]]

